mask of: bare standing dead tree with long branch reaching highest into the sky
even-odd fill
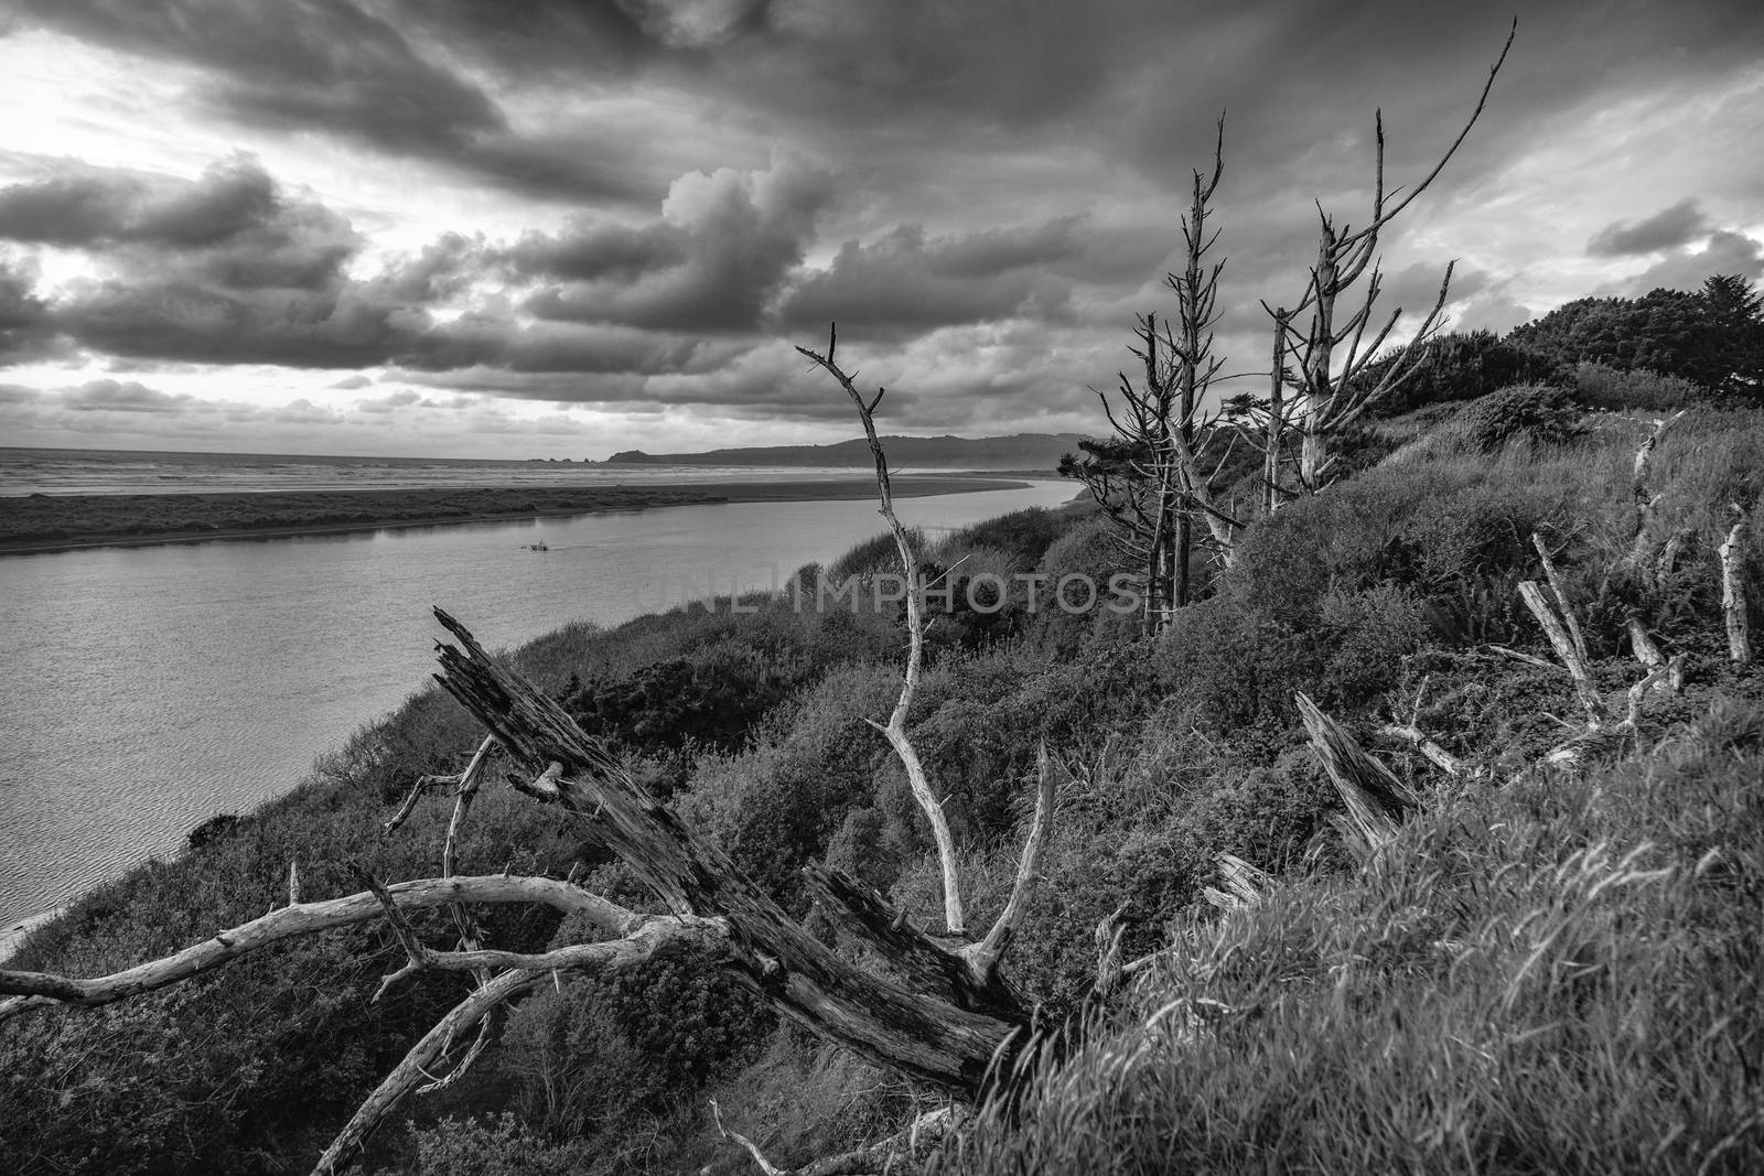
[[[1311,264],[1305,293],[1291,309],[1293,319],[1309,310],[1309,323],[1305,330],[1300,330],[1289,319],[1284,328],[1286,340],[1297,358],[1295,374],[1298,388],[1291,406],[1289,425],[1300,435],[1298,485],[1305,494],[1314,494],[1328,478],[1334,462],[1330,451],[1332,441],[1346,427],[1353,425],[1367,407],[1390,395],[1413,376],[1422,358],[1422,344],[1441,326],[1441,312],[1445,310],[1455,263],[1446,264],[1445,279],[1439,282],[1439,294],[1434,298],[1432,309],[1422,319],[1409,342],[1394,356],[1387,356],[1387,363],[1381,365],[1383,370],[1376,379],[1367,379],[1372,358],[1378,356],[1378,349],[1383,347],[1397,319],[1402,316],[1402,307],[1397,307],[1383,319],[1383,326],[1374,328],[1374,307],[1383,289],[1378,259],[1379,236],[1416,196],[1427,190],[1452,155],[1457,153],[1466,136],[1469,136],[1469,129],[1476,125],[1482,109],[1489,102],[1494,78],[1501,72],[1517,32],[1519,21],[1515,18],[1512,30],[1506,33],[1506,44],[1501,46],[1501,55],[1489,69],[1489,78],[1482,86],[1482,95],[1476,99],[1476,108],[1471,111],[1469,120],[1420,183],[1408,194],[1402,194],[1401,199],[1397,199],[1401,189],[1385,192],[1385,115],[1378,111],[1374,118],[1378,157],[1372,171],[1371,222],[1357,231],[1349,231],[1348,224],[1337,227],[1335,219],[1318,206],[1318,256]],[[1344,300],[1362,277],[1365,279],[1365,289],[1358,309],[1351,314],[1342,314]],[[1371,340],[1367,340],[1369,328],[1372,328]]]

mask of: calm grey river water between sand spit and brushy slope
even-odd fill
[[[1041,481],[898,513],[935,532],[1071,495]],[[769,587],[878,531],[873,501],[729,502],[4,557],[0,931],[293,788],[427,682],[430,605],[513,647]]]

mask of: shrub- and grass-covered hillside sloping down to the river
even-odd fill
[[[1605,402],[1679,395],[1626,381]],[[1494,397],[1381,421],[1381,462],[1254,522],[1231,569],[1196,566],[1205,599],[1161,638],[1021,594],[937,621],[912,730],[949,797],[975,922],[1009,889],[1039,741],[1060,765],[1011,973],[1064,1047],[931,1169],[1764,1167],[1764,674],[1727,661],[1716,559],[1729,502],[1755,502],[1764,478],[1764,414],[1699,406],[1665,435],[1648,536],[1651,552],[1679,536],[1678,557],[1662,569],[1649,555],[1642,575],[1625,557],[1649,420],[1544,390]],[[1764,525],[1750,520],[1764,633]],[[1681,691],[1646,695],[1633,732],[1579,741],[1565,763],[1545,756],[1582,728],[1579,703],[1517,596],[1540,577],[1533,532],[1618,714],[1641,677],[1630,615],[1683,656]],[[1025,511],[926,552],[958,582],[1117,569],[1083,510]],[[829,568],[884,569],[877,543]],[[924,822],[864,723],[898,691],[896,608],[746,603],[570,628],[512,656],[810,927],[833,934],[799,890],[811,860],[928,917],[940,896]],[[1298,691],[1420,797],[1376,853],[1337,830]],[[1466,770],[1443,774],[1385,730],[1394,718]],[[289,860],[309,897],[358,889],[351,859],[434,875],[445,799],[392,837],[379,825],[415,774],[453,770],[478,737],[422,691],[295,795],[81,901],[14,966],[92,975],[175,950],[286,903]],[[1267,875],[1254,903],[1208,901],[1221,853]],[[579,827],[506,790],[480,800],[460,859],[575,871],[649,903]],[[1095,927],[1111,915],[1120,959],[1154,963],[1102,1000]],[[452,942],[445,913],[415,922]],[[510,949],[570,933],[520,908],[485,922]],[[0,1026],[0,1148],[21,1172],[305,1171],[462,993],[425,977],[370,1005],[402,957],[365,924],[141,1000],[14,1019]],[[522,1003],[466,1079],[376,1141],[370,1167],[753,1171],[709,1123],[709,1097],[778,1164],[887,1135],[926,1105],[676,961],[637,980],[564,977]]]

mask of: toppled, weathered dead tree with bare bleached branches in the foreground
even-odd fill
[[[826,365],[836,372],[831,344]],[[848,379],[841,383],[850,390]],[[875,400],[870,400],[863,416],[877,455],[884,513],[896,529],[903,557],[910,559],[910,547],[893,518],[887,465],[870,425],[873,409]],[[483,723],[489,739],[460,776],[418,781],[390,827],[397,827],[416,797],[436,783],[455,785],[455,815],[445,853],[448,876],[386,885],[363,873],[365,889],[358,894],[300,901],[298,875],[291,871],[288,906],[217,931],[175,956],[95,979],[0,970],[0,1021],[53,1005],[127,1000],[293,936],[385,919],[406,950],[406,963],[383,980],[379,994],[423,971],[473,973],[476,987],[369,1095],[319,1158],[316,1172],[325,1174],[348,1169],[374,1128],[406,1097],[457,1077],[482,1051],[487,1017],[506,1001],[550,982],[557,971],[633,968],[686,952],[709,957],[776,1012],[826,1040],[956,1100],[977,1100],[993,1076],[1013,1072],[1013,1058],[1030,1038],[1032,1010],[1000,964],[1028,912],[1053,813],[1053,772],[1044,748],[1039,755],[1035,816],[1016,880],[983,938],[974,940],[963,931],[953,859],[947,855],[947,934],[921,931],[880,894],[840,871],[820,866],[804,869],[820,906],[848,940],[868,952],[868,961],[854,963],[810,934],[721,848],[646,793],[598,739],[584,733],[557,702],[520,674],[489,656],[466,626],[439,608],[436,619],[453,638],[437,645],[441,672],[436,681]],[[921,652],[916,636],[901,702],[889,725],[878,725],[896,751],[910,751],[905,711]],[[476,793],[490,741],[520,770],[510,778],[519,792],[582,822],[596,843],[647,885],[665,913],[639,913],[556,878],[452,876],[452,843]],[[926,813],[931,816],[935,797],[928,788],[923,795],[931,802]],[[538,954],[489,950],[480,947],[469,915],[460,915],[460,949],[437,950],[420,940],[406,917],[411,910],[437,906],[466,912],[476,903],[543,903],[582,919],[594,938]],[[473,1046],[459,1049],[473,1030],[480,1030]]]

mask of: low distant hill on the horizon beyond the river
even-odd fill
[[[1053,469],[1062,453],[1078,450],[1078,434],[1014,434],[1011,437],[882,437],[889,465],[933,469]],[[774,444],[707,453],[644,453],[624,450],[609,465],[870,465],[863,437],[836,444]]]

